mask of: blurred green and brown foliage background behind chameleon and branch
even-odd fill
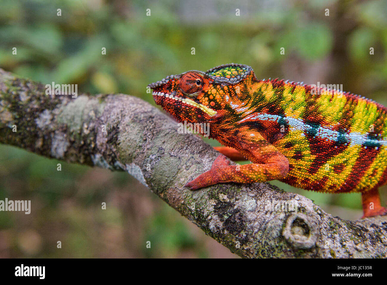
[[[0,68],[44,84],[78,84],[79,93],[154,104],[147,84],[234,62],[252,66],[259,79],[343,84],[387,105],[387,1],[0,0],[0,7]],[[360,194],[273,184],[334,216],[362,215]],[[380,192],[385,204],[387,187]],[[237,257],[127,173],[0,145],[5,197],[31,200],[32,211],[0,212],[0,258]]]

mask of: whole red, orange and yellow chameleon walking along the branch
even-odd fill
[[[149,87],[176,120],[209,123],[210,137],[223,145],[211,170],[187,187],[277,179],[318,192],[361,192],[363,218],[387,214],[378,193],[387,183],[385,106],[339,90],[259,80],[241,64],[191,70]],[[224,155],[252,163],[237,168]]]

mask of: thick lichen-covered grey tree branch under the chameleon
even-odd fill
[[[125,94],[73,99],[45,90],[0,69],[0,143],[126,171],[242,257],[387,257],[386,217],[332,217],[310,199],[269,183],[191,191],[184,184],[209,170],[218,153],[195,135],[178,134],[176,122],[158,108]],[[297,201],[298,212],[265,209],[272,198]]]

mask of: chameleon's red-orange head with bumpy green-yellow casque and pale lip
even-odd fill
[[[149,87],[156,104],[176,119],[211,122],[238,103],[240,83],[250,76],[255,78],[251,67],[227,64],[206,72],[191,70],[167,76]]]

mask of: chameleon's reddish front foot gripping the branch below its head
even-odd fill
[[[194,180],[185,184],[185,186],[190,187],[191,190],[196,190],[222,182],[222,173],[226,167],[231,167],[230,162],[227,160],[226,156],[219,155],[214,163],[212,163],[210,170],[200,174]]]

